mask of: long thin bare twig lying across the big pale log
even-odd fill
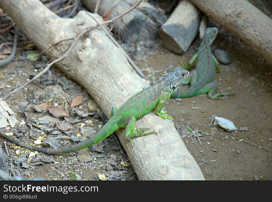
[[[104,21],[103,23],[100,23],[100,25],[104,25],[104,24],[108,24],[108,23],[112,23],[114,20],[120,18],[121,16],[129,13],[130,11],[132,11],[136,6],[139,5],[139,3],[142,0],[138,1],[137,3],[134,4],[134,6],[132,6],[130,9],[128,9],[127,11],[125,11],[124,13],[122,13],[121,15],[116,16],[115,18],[111,19],[111,20],[107,20]],[[37,78],[39,78],[40,76],[42,76],[43,74],[45,74],[45,72],[55,63],[57,63],[58,61],[61,61],[62,59],[64,59],[65,57],[67,57],[68,53],[70,53],[70,51],[72,50],[72,48],[74,48],[77,40],[86,32],[89,32],[91,30],[96,29],[97,27],[100,26],[99,24],[96,24],[95,26],[91,26],[89,28],[87,28],[86,30],[80,32],[79,34],[76,35],[76,37],[74,38],[74,40],[72,41],[72,43],[70,44],[70,47],[68,48],[68,50],[66,51],[66,53],[64,53],[61,57],[57,58],[56,60],[50,62],[49,64],[46,65],[45,69],[43,69],[39,74],[37,74],[35,77],[33,77],[31,80],[25,82],[22,86],[16,88],[15,90],[12,90],[10,93],[8,93],[3,100],[7,99],[9,96],[11,96],[12,94],[14,94],[15,92],[17,92],[18,90],[21,90],[22,88],[24,88],[26,85],[28,85],[29,83],[35,81]]]

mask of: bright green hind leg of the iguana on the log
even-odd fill
[[[154,131],[144,133],[148,128],[139,128],[137,130],[136,128],[134,128],[135,121],[136,119],[134,116],[127,116],[117,121],[117,125],[120,128],[125,128],[125,138],[130,141],[132,146],[133,146],[132,138],[146,136],[151,133],[155,133]]]

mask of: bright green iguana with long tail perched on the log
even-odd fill
[[[125,138],[133,145],[132,138],[155,133],[154,131],[144,133],[148,128],[139,128],[138,130],[134,128],[135,120],[150,113],[155,107],[157,107],[156,112],[158,116],[173,120],[171,116],[167,115],[166,112],[161,112],[161,110],[171,94],[177,90],[177,87],[184,82],[188,76],[189,71],[180,67],[177,67],[171,73],[162,75],[152,86],[133,95],[119,109],[112,107],[108,122],[93,137],[77,145],[61,149],[46,149],[21,143],[2,132],[0,132],[0,135],[16,145],[30,150],[45,154],[65,154],[94,145],[108,137],[118,128],[125,128]]]

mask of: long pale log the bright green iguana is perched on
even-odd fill
[[[87,15],[87,11],[80,11],[73,19],[62,19],[39,0],[0,1],[0,7],[41,50],[95,25],[89,15],[102,22],[99,15]],[[46,53],[47,56],[57,56],[66,50],[68,44],[67,41],[58,44]],[[118,48],[101,29],[81,37],[68,57],[56,64],[90,93],[106,116],[109,116],[113,105],[120,107],[148,83],[135,73],[123,49]],[[137,120],[135,126],[157,132],[134,138],[132,147],[124,137],[124,129],[117,130],[139,179],[204,180],[197,162],[171,121],[151,112]]]

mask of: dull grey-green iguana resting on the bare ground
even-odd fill
[[[190,69],[193,62],[198,58],[196,68],[190,73],[189,78],[182,84],[189,84],[187,89],[179,89],[171,95],[172,98],[187,98],[198,94],[208,93],[210,99],[223,98],[223,95],[233,95],[234,93],[215,93],[218,82],[214,81],[215,72],[218,70],[218,61],[211,52],[210,45],[215,40],[218,29],[208,27],[197,53],[189,61],[189,67],[186,63],[182,66],[184,69]]]

